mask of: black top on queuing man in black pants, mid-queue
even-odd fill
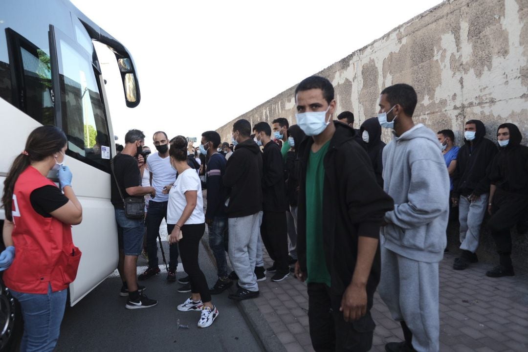
[[[284,160],[274,141],[269,141],[262,153],[262,198],[265,212],[284,213],[288,210]]]

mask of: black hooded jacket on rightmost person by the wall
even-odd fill
[[[499,147],[488,178],[492,185],[503,191],[528,195],[528,147],[521,145],[523,136],[513,123],[503,123],[497,133],[501,128],[510,131],[510,141],[506,147]]]

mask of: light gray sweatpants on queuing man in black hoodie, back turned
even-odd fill
[[[229,260],[238,275],[240,287],[258,291],[257,275],[254,273],[257,261],[257,243],[260,232],[259,213],[229,218]]]

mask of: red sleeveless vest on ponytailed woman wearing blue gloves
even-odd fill
[[[32,166],[18,177],[13,192],[15,260],[4,272],[5,285],[18,292],[48,293],[68,288],[75,280],[81,251],[73,245],[71,226],[44,217],[31,206],[36,188],[55,184]]]

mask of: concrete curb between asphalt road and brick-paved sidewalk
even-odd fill
[[[209,258],[216,266],[216,260],[214,259],[213,252],[209,247],[209,233],[208,239],[204,239],[202,236],[202,245],[205,251],[209,254]],[[229,288],[230,293],[236,291],[235,285]],[[261,349],[266,352],[286,352],[286,348],[280,342],[277,335],[275,335],[273,329],[266,321],[266,318],[259,311],[259,308],[252,300],[244,300],[237,303],[237,306],[244,317],[244,320],[248,322],[248,325],[253,332],[253,335],[257,338],[257,342],[261,346]]]

